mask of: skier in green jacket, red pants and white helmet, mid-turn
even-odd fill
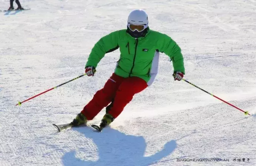
[[[143,10],[133,10],[129,14],[127,29],[114,31],[95,44],[86,63],[86,75],[94,76],[104,55],[118,48],[121,54],[115,72],[70,123],[72,126],[92,120],[104,107],[106,114],[100,129],[113,122],[134,94],[152,84],[157,75],[160,52],[167,54],[173,62],[174,80],[180,81],[185,74],[180,47],[166,34],[150,30],[148,15]]]

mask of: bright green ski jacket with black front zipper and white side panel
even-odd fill
[[[140,77],[148,86],[157,75],[159,52],[168,55],[175,71],[185,74],[181,49],[166,34],[148,30],[145,37],[135,39],[126,29],[114,31],[102,37],[92,48],[86,66],[97,67],[106,53],[120,50],[120,59],[116,64],[115,74],[121,77]]]

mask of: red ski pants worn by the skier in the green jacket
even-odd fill
[[[141,92],[146,87],[148,87],[147,82],[139,77],[124,78],[113,73],[104,87],[94,94],[93,99],[83,108],[81,113],[88,120],[92,120],[114,100],[108,113],[116,118],[132,100],[134,94]]]

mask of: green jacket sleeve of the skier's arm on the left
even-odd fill
[[[97,67],[99,61],[104,57],[106,53],[112,52],[119,48],[118,46],[119,31],[114,31],[104,37],[102,37],[92,48],[92,51],[88,57],[86,66]]]

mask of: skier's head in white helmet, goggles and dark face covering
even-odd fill
[[[145,36],[148,27],[148,14],[141,9],[133,10],[127,20],[127,32],[135,38]]]

